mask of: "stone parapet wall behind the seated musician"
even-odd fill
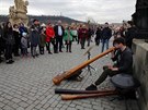
[[[140,81],[139,93],[140,110],[148,110],[148,42],[135,39],[134,51],[134,74]]]

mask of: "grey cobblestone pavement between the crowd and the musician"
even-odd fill
[[[88,47],[87,47],[88,49]],[[52,78],[80,64],[87,60],[76,42],[72,45],[72,53],[58,53],[39,56],[33,58],[14,58],[12,65],[0,63],[0,110],[125,110],[123,100],[114,100],[113,97],[89,98],[62,101],[59,95],[55,95],[55,88],[84,89],[102,72],[102,65],[110,63],[109,57],[95,61],[91,65],[96,69],[90,75],[83,69],[82,82],[64,81],[59,86],[55,86]],[[65,50],[65,49],[64,49]],[[100,53],[100,47],[91,50],[91,57]],[[106,80],[99,89],[113,88]],[[129,110],[138,110],[137,102],[128,100]]]

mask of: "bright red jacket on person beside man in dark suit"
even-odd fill
[[[55,38],[55,32],[53,27],[46,27],[46,41],[49,42],[50,38]]]

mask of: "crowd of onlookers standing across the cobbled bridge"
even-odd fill
[[[61,21],[57,24],[39,23],[38,20],[33,20],[30,27],[25,27],[23,23],[12,25],[10,22],[1,23],[0,25],[0,62],[5,58],[7,64],[14,62],[13,57],[27,57],[29,48],[33,58],[45,53],[45,48],[49,54],[62,52],[72,52],[72,42],[80,44],[81,49],[90,46],[92,36],[95,35],[94,41],[96,46],[102,42],[102,52],[112,36],[114,38],[124,37],[126,45],[132,48],[132,40],[135,36],[135,27],[132,22],[124,23],[123,26],[111,28],[109,23],[92,28],[87,24],[62,25]],[[52,46],[53,50],[52,51]],[[39,51],[37,51],[37,48]]]

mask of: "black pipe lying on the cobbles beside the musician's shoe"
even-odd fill
[[[56,88],[55,94],[101,94],[101,93],[113,93],[115,89],[105,90],[76,90],[76,89],[61,89]]]

